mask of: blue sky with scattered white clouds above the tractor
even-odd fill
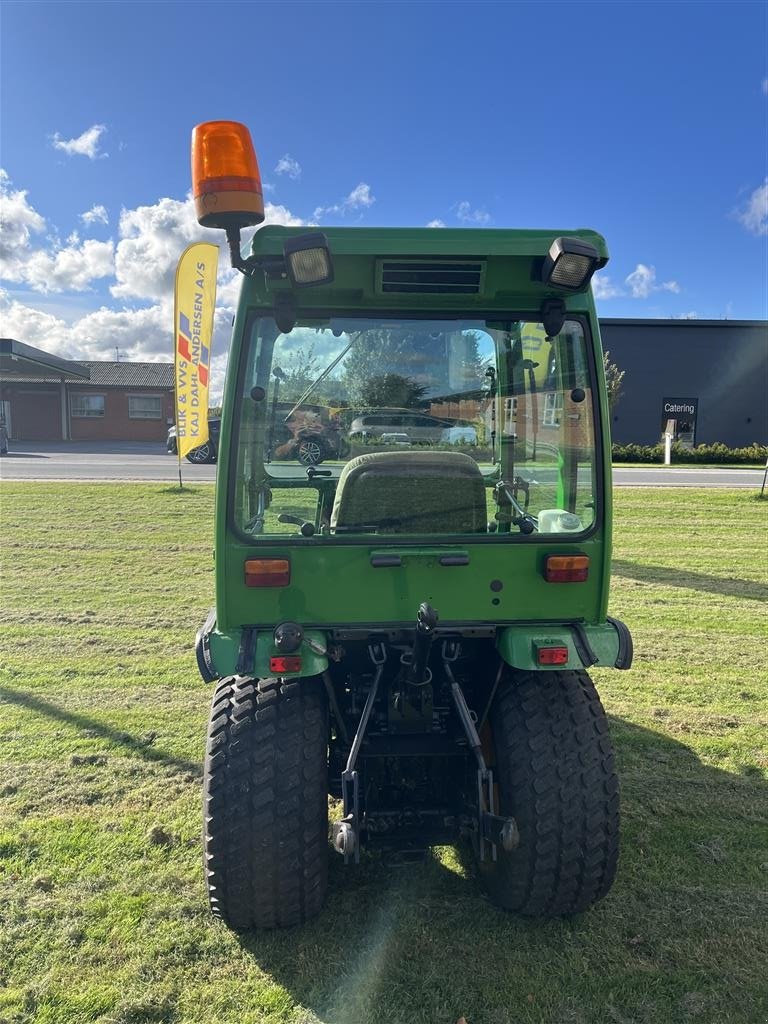
[[[591,227],[601,316],[768,317],[768,4],[0,7],[0,334],[170,359],[173,278],[222,246],[193,127],[249,126],[266,222]]]

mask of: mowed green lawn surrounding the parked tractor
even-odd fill
[[[0,487],[0,1022],[765,1021],[768,502],[615,497],[636,660],[595,674],[623,790],[608,898],[531,922],[452,849],[334,855],[317,920],[238,937],[201,870],[213,488]]]

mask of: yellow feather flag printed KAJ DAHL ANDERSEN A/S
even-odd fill
[[[218,246],[197,242],[183,251],[176,267],[173,326],[179,459],[208,440],[208,384],[218,264]]]

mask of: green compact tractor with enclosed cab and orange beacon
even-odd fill
[[[618,856],[588,670],[632,662],[607,615],[610,440],[590,289],[604,240],[266,226],[244,257],[241,229],[263,219],[247,129],[198,126],[193,175],[200,222],[226,231],[244,274],[216,606],[197,639],[216,684],[213,913],[238,930],[297,925],[323,905],[330,856],[458,842],[498,905],[586,909]],[[317,409],[338,443],[319,465],[281,460],[286,423],[306,412],[311,425]]]

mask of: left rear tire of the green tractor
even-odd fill
[[[204,779],[211,912],[236,931],[316,914],[328,886],[328,711],[319,679],[216,687]]]

